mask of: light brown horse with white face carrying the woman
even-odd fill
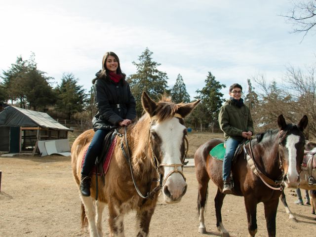
[[[118,131],[120,137],[117,137],[118,142],[105,176],[105,183],[99,178],[98,201],[93,199],[96,194],[95,175],[91,177],[91,197],[80,195],[81,226],[84,227],[88,222],[91,237],[103,236],[102,212],[106,204],[109,208],[111,236],[124,237],[124,214],[135,210],[136,236],[147,237],[158,199],[156,191],[161,187],[167,203],[181,200],[187,190],[182,173],[187,141],[183,118],[189,115],[198,103],[199,100],[188,104],[174,104],[164,97],[155,103],[143,92],[142,105],[146,113],[136,123],[127,127],[128,148],[125,137],[122,136],[124,129]],[[93,133],[93,130],[85,131],[72,146],[72,169],[78,187],[81,161]],[[135,182],[124,153],[130,158]],[[159,179],[160,182],[157,182]],[[140,194],[135,187],[138,187]],[[152,198],[143,198],[151,192]]]

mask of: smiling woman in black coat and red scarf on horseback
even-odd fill
[[[80,192],[85,197],[90,196],[90,172],[101,153],[105,136],[113,128],[127,126],[136,118],[135,100],[125,76],[120,69],[118,56],[114,52],[105,53],[102,70],[92,80],[98,112],[92,119],[95,132],[81,170]]]

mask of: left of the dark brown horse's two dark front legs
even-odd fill
[[[254,197],[245,197],[245,207],[248,220],[249,237],[254,237],[258,231],[257,226],[257,201]]]

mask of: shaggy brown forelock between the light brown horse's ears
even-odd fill
[[[183,105],[183,103],[175,104],[171,101],[170,97],[162,95],[161,99],[158,103],[156,103],[156,105],[157,108],[154,115],[157,116],[158,122],[161,122],[174,117],[175,113],[178,111],[179,107]]]

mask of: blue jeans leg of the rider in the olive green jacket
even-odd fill
[[[229,138],[226,141],[226,152],[223,159],[223,180],[227,180],[228,177],[230,177],[231,174],[231,168],[232,168],[232,159],[234,157],[235,151],[239,145],[239,141]]]

